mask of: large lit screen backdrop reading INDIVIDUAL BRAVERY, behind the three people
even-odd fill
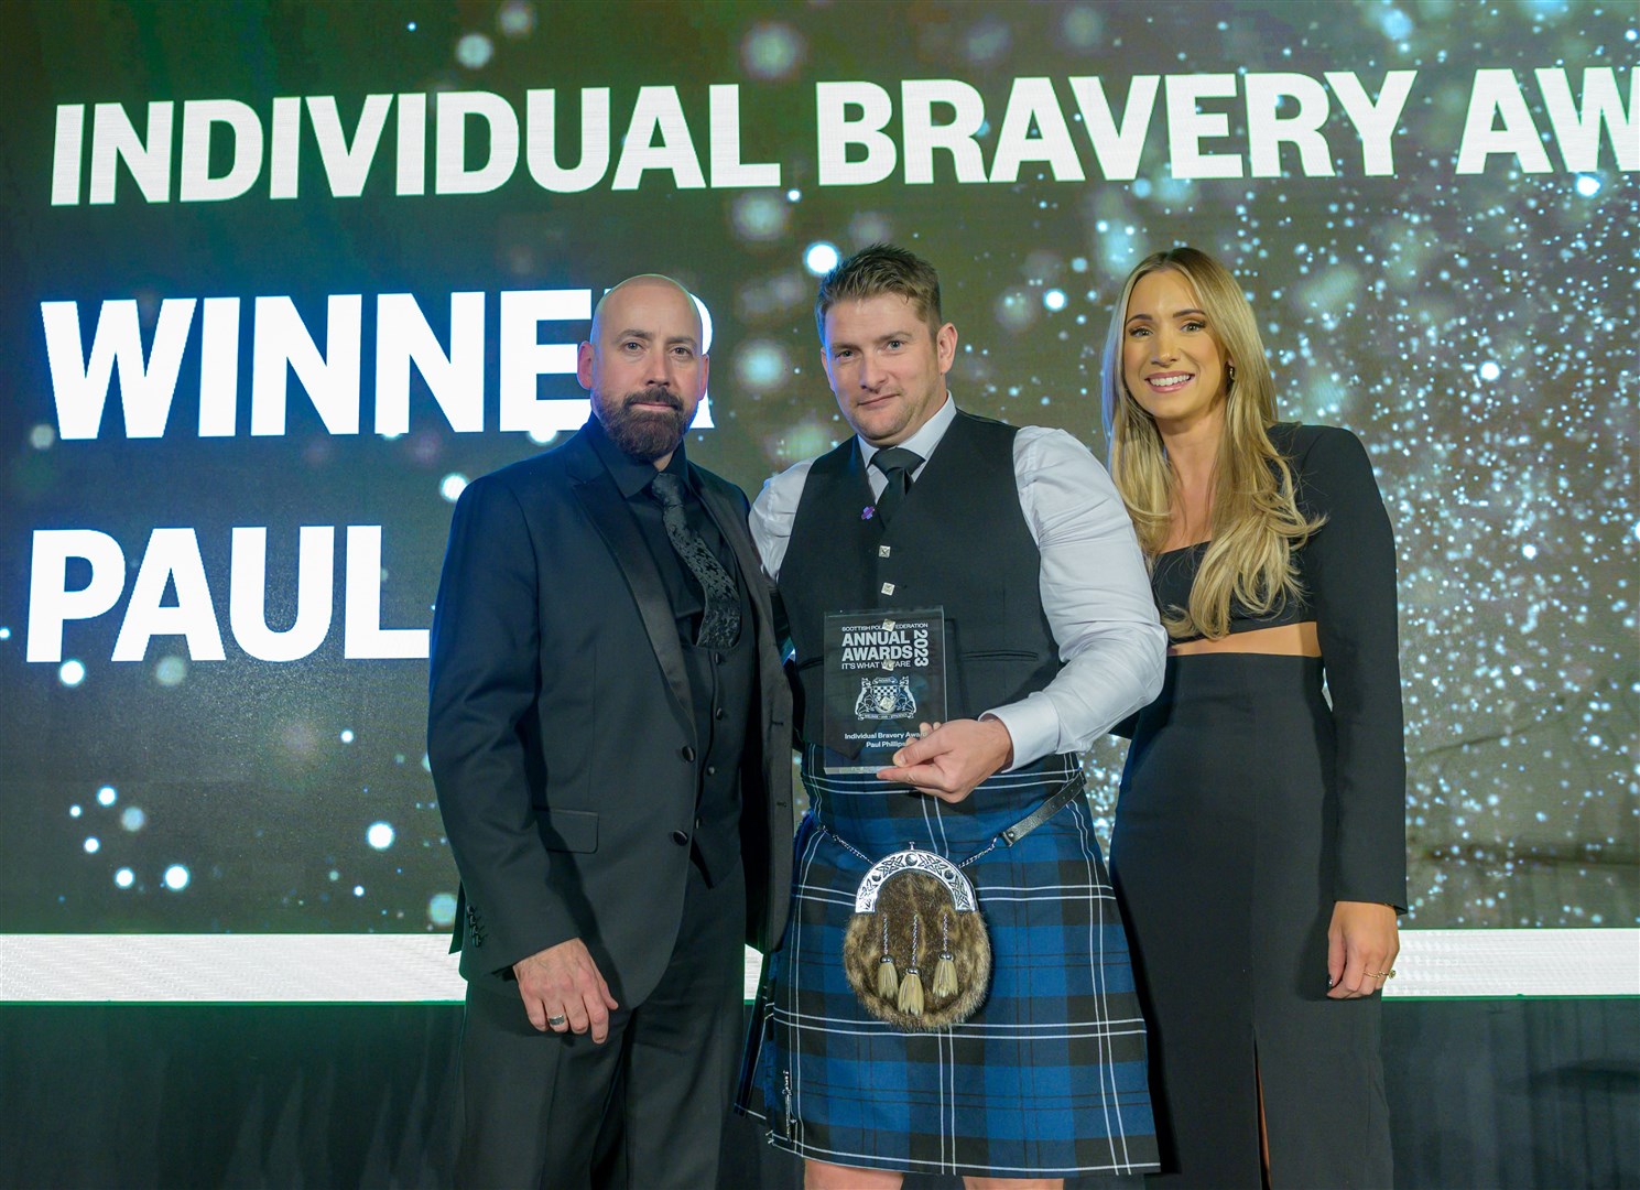
[[[1225,259],[1281,415],[1356,432],[1396,525],[1407,926],[1632,959],[1632,5],[11,3],[0,41],[0,996],[79,955],[172,998],[174,936],[444,995],[454,497],[581,425],[640,271],[704,304],[689,451],[754,494],[846,433],[815,272],[877,240],[941,269],[963,405],[1100,455],[1127,269]]]

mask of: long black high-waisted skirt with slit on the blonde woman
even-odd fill
[[[1386,1187],[1379,996],[1327,998],[1335,729],[1322,661],[1168,658],[1122,776],[1112,876],[1171,1187]]]

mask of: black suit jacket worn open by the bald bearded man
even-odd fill
[[[779,942],[792,857],[790,691],[746,497],[690,465],[758,637],[741,763],[746,941]],[[581,937],[623,1006],[661,978],[694,831],[695,727],[672,609],[585,433],[456,504],[431,634],[428,762],[461,873],[469,980]]]

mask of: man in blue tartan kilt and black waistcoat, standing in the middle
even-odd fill
[[[927,261],[868,248],[820,282],[815,317],[856,437],[771,479],[751,514],[789,625],[810,809],[736,1106],[807,1159],[809,1187],[1151,1170],[1145,1024],[1076,755],[1161,688],[1166,635],[1127,512],[1071,435],[956,409],[958,335]],[[892,767],[836,771],[825,616],[933,606],[948,721]],[[989,927],[989,990],[940,1028],[868,1014],[845,973],[856,888],[907,845],[959,865]]]

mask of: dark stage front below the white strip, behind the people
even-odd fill
[[[449,1185],[459,1037],[458,1005],[5,1005],[0,1185]],[[1640,1185],[1635,1000],[1389,1001],[1384,1037],[1399,1187]],[[725,1147],[730,1190],[802,1182],[748,1121]]]

